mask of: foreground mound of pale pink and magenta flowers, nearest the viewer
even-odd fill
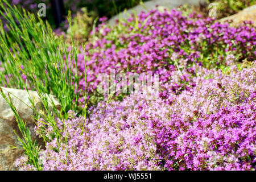
[[[44,169],[253,169],[256,68],[232,67],[230,75],[197,72],[197,85],[172,94],[168,103],[151,94],[131,94],[122,102],[99,102],[86,121],[68,119],[67,146],[62,143],[56,151],[57,139],[47,143],[40,157]]]

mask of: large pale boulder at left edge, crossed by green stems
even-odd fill
[[[5,95],[10,94],[11,101],[18,110],[20,117],[26,122],[26,126],[30,130],[32,140],[37,139],[39,145],[44,147],[42,139],[36,137],[34,133],[34,115],[33,110],[30,108],[32,104],[29,100],[31,97],[34,100],[36,110],[42,109],[42,101],[35,91],[29,91],[30,96],[26,90],[11,89],[1,87]],[[61,106],[54,96],[52,98],[56,108],[60,110]],[[7,96],[8,98],[8,96]],[[30,106],[30,107],[28,107]],[[23,154],[23,147],[16,137],[14,130],[20,135],[18,124],[13,111],[7,104],[5,99],[0,95],[0,170],[15,170],[14,162]],[[21,135],[20,135],[21,137]]]

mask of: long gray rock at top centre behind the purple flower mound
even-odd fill
[[[137,6],[133,7],[132,9],[127,10],[126,12],[122,12],[118,15],[113,16],[109,20],[109,24],[111,24],[111,25],[115,24],[115,20],[119,19],[120,15],[121,15],[122,19],[128,19],[130,17],[129,14],[132,14],[134,12],[136,14],[139,14],[142,11],[147,12],[147,11],[150,11],[152,9],[155,9],[156,5],[159,5],[158,9],[160,9],[160,10],[163,9],[163,8],[166,8],[168,10],[168,9],[174,9],[174,8],[180,6],[180,5],[185,5],[185,4],[200,5],[200,3],[201,4],[206,3],[206,1],[205,0],[151,0],[151,1],[146,1],[146,2],[143,2],[143,3],[144,3],[144,6],[137,5]]]

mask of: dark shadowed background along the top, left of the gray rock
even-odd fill
[[[56,22],[54,20],[55,7],[53,7],[54,2],[61,2],[64,6],[64,16],[68,15],[68,10],[71,10],[72,15],[75,16],[78,12],[84,12],[93,18],[97,16],[106,16],[111,18],[113,15],[125,10],[130,9],[138,5],[140,2],[146,0],[8,0],[11,5],[17,6],[19,9],[23,8],[31,13],[38,13],[39,3],[46,4],[46,16],[41,17],[43,20],[47,20],[53,28],[57,28]],[[84,9],[82,9],[84,7]]]

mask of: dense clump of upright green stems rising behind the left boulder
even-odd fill
[[[73,69],[76,69],[76,48],[68,53],[67,45],[61,38],[56,38],[49,24],[35,16],[23,11],[19,13],[16,7],[1,7],[6,12],[6,19],[10,24],[10,35],[15,39],[9,39],[9,34],[1,28],[1,48],[3,53],[2,63],[5,71],[3,75],[9,75],[9,82],[2,80],[6,86],[23,89],[24,85],[35,89],[39,93],[55,95],[62,108],[61,113],[68,110],[76,110],[79,93],[75,92],[79,77],[73,75]],[[1,11],[1,14],[3,14]],[[15,19],[18,24],[15,23]],[[68,57],[71,57],[72,63],[69,63]],[[22,74],[27,77],[24,82]]]

